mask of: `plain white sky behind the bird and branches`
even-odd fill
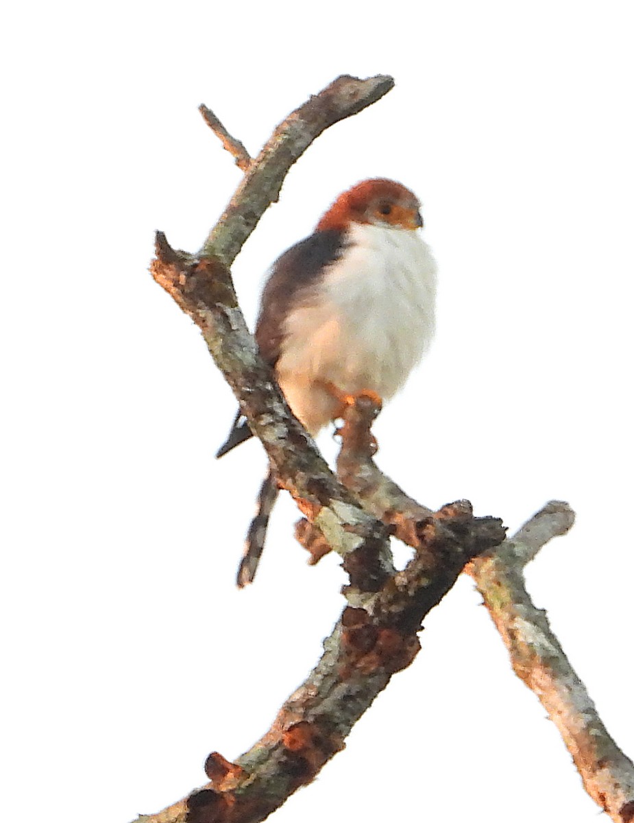
[[[419,193],[437,339],[377,422],[378,461],[422,502],[468,497],[511,530],[571,502],[577,525],[530,591],[634,756],[630,15],[609,0],[14,4],[7,820],[127,823],[182,797],[210,751],[234,758],[264,732],[344,605],[336,558],[308,568],[286,500],[256,584],[234,588],[261,449],[215,463],[234,398],[146,271],[154,230],[197,249],[240,177],[197,105],[256,153],[344,72],[396,89],[291,171],[234,267],[245,313],[341,190],[385,175]],[[478,604],[460,579],[414,665],[277,823],[604,819]]]

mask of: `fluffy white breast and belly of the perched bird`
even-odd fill
[[[355,224],[349,246],[286,319],[276,370],[313,432],[333,406],[320,384],[391,398],[433,337],[436,264],[419,233]]]

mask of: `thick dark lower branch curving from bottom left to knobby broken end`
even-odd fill
[[[450,504],[428,518],[421,550],[373,597],[371,608],[346,607],[322,659],[286,700],[268,732],[234,764],[214,752],[211,782],[137,823],[257,823],[310,783],[344,747],[345,737],[393,674],[419,651],[417,633],[465,562],[504,535],[499,521],[474,518]]]

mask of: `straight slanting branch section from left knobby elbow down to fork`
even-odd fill
[[[174,252],[159,234],[151,272],[201,328],[216,365],[234,389],[253,433],[261,439],[275,476],[344,558],[345,567],[356,570],[350,577],[351,586],[363,592],[377,591],[393,570],[389,532],[341,486],[290,412],[244,322],[229,270],[216,259],[197,262]],[[367,565],[354,563],[356,552]]]

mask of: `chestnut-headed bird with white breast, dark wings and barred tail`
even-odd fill
[[[391,398],[428,350],[437,266],[422,228],[420,202],[409,188],[367,179],[341,193],[312,235],[273,263],[256,342],[310,435],[359,395]],[[250,437],[238,411],[216,457]],[[255,576],[278,491],[270,468],[248,530],[240,588]]]

